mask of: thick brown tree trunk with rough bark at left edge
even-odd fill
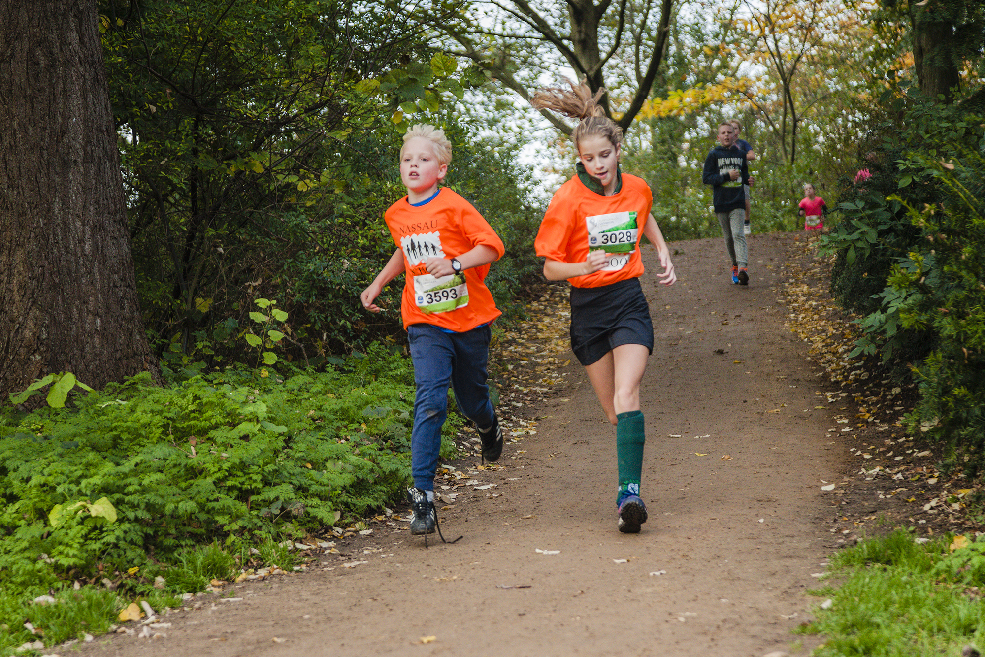
[[[0,395],[160,378],[137,303],[95,0],[0,0]]]

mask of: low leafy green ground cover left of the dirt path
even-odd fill
[[[379,512],[410,479],[413,373],[379,346],[324,372],[141,375],[71,399],[0,416],[0,650],[38,639],[25,622],[52,645],[104,631],[125,601],[173,607],[288,568],[281,542]]]

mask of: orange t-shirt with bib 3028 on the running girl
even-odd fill
[[[635,175],[624,173],[623,188],[612,196],[593,192],[576,175],[551,199],[534,242],[537,255],[584,262],[589,248],[607,251],[604,268],[568,279],[575,288],[600,288],[642,276],[639,239],[652,205],[653,192]]]

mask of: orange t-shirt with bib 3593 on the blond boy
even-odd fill
[[[455,258],[479,244],[495,249],[497,260],[502,257],[502,240],[472,204],[442,187],[422,206],[411,205],[405,196],[390,206],[385,219],[393,241],[404,251],[406,282],[400,312],[405,329],[411,324],[433,324],[460,333],[502,314],[484,283],[489,265],[440,278],[429,275],[425,267],[427,258]]]

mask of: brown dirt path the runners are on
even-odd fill
[[[572,361],[502,468],[459,470],[439,514],[446,538],[464,536],[454,545],[435,536],[426,549],[397,522],[303,574],[235,585],[240,601],[199,596],[162,638],[114,634],[62,654],[807,654],[817,639],[790,632],[818,602],[804,593],[833,547],[821,486],[846,463],[775,301],[795,236],[751,239],[749,287],[730,283],[721,239],[672,244],[670,289],[644,248],[656,346],[641,388],[640,534],[616,529],[615,428]]]

